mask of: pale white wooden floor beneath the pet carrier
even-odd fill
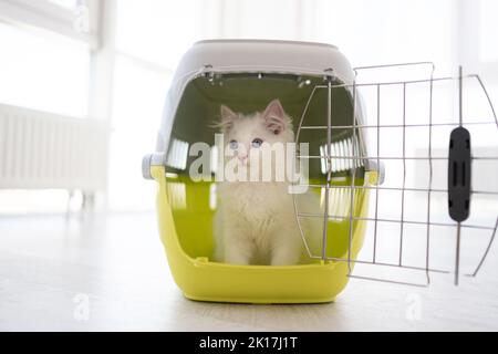
[[[497,331],[496,251],[457,288],[352,279],[330,304],[217,304],[183,296],[152,214],[2,217],[0,330]]]

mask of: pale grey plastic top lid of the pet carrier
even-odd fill
[[[184,54],[166,97],[156,145],[165,152],[173,118],[186,85],[206,72],[333,75],[351,84],[354,72],[335,45],[273,40],[205,40]]]

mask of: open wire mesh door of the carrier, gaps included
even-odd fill
[[[407,67],[427,73],[359,80],[362,72]],[[299,155],[321,163],[322,183],[308,186],[320,190],[323,208],[302,210],[294,196],[310,258],[347,262],[351,278],[422,287],[433,274],[453,274],[458,284],[461,273],[479,272],[498,227],[498,121],[478,75],[464,75],[460,67],[456,76],[434,77],[434,69],[430,62],[356,67],[352,84],[338,82],[330,71],[312,91],[295,140],[310,132],[324,134],[319,150]],[[339,113],[333,104],[341,90],[350,97],[350,112]],[[319,93],[326,97],[322,123],[308,124]],[[359,204],[367,209],[359,212]],[[302,227],[310,218],[322,219],[318,251]],[[344,232],[331,233],[331,220],[346,226]],[[366,236],[357,240],[362,227]],[[345,247],[331,252],[336,238]],[[355,242],[364,243],[360,254]]]

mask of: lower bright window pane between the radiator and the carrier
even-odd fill
[[[152,209],[154,185],[139,163],[154,150],[170,75],[117,56],[111,136],[108,199],[112,209]]]

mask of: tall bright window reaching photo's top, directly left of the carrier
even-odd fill
[[[193,42],[207,33],[204,2],[181,1],[174,7],[154,0],[115,2],[108,184],[112,209],[154,207],[155,187],[144,184],[139,162],[155,149],[163,105],[177,62]]]

